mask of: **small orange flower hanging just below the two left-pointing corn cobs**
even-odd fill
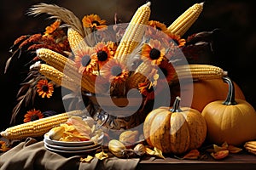
[[[50,98],[54,92],[54,84],[51,82],[48,82],[47,79],[41,79],[37,83],[37,92],[39,96],[42,96],[44,98],[45,96],[47,98]]]

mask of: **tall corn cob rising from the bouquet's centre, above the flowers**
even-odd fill
[[[151,3],[148,2],[137,9],[125,30],[124,36],[119,42],[114,57],[123,65],[127,65],[127,54],[131,54],[132,50],[137,47],[138,43],[141,42],[143,38],[145,25],[148,24],[151,13],[150,4]]]

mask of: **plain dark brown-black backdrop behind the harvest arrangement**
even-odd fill
[[[129,22],[132,14],[145,0],[2,0],[0,2],[0,82],[1,82],[1,123],[8,122],[16,91],[13,89],[13,80],[17,77],[8,77],[3,74],[6,60],[10,57],[9,48],[17,37],[26,34],[44,31],[51,21],[46,15],[37,17],[26,15],[27,9],[36,3],[55,3],[61,7],[70,9],[80,19],[85,14],[99,14],[102,19],[108,21],[108,25],[114,23],[113,16],[118,14],[122,22]],[[159,20],[169,26],[172,21],[194,3],[202,1],[178,0],[164,1],[152,0],[150,20]],[[230,77],[240,86],[249,103],[256,108],[256,91],[254,80],[256,57],[256,12],[254,1],[244,0],[206,0],[204,9],[195,24],[184,35],[212,31],[215,28],[221,30],[214,39],[214,65],[221,66],[229,72]],[[1,129],[0,129],[1,130]]]

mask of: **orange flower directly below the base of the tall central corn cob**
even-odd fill
[[[102,79],[103,82],[108,80],[113,83],[121,83],[124,82],[128,76],[129,71],[127,71],[125,65],[122,65],[116,59],[110,59],[100,70],[99,78]]]

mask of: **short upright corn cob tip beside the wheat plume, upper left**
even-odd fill
[[[84,37],[82,37],[78,31],[71,27],[69,27],[67,30],[67,40],[74,55],[82,54],[83,48],[88,47],[84,41]]]

